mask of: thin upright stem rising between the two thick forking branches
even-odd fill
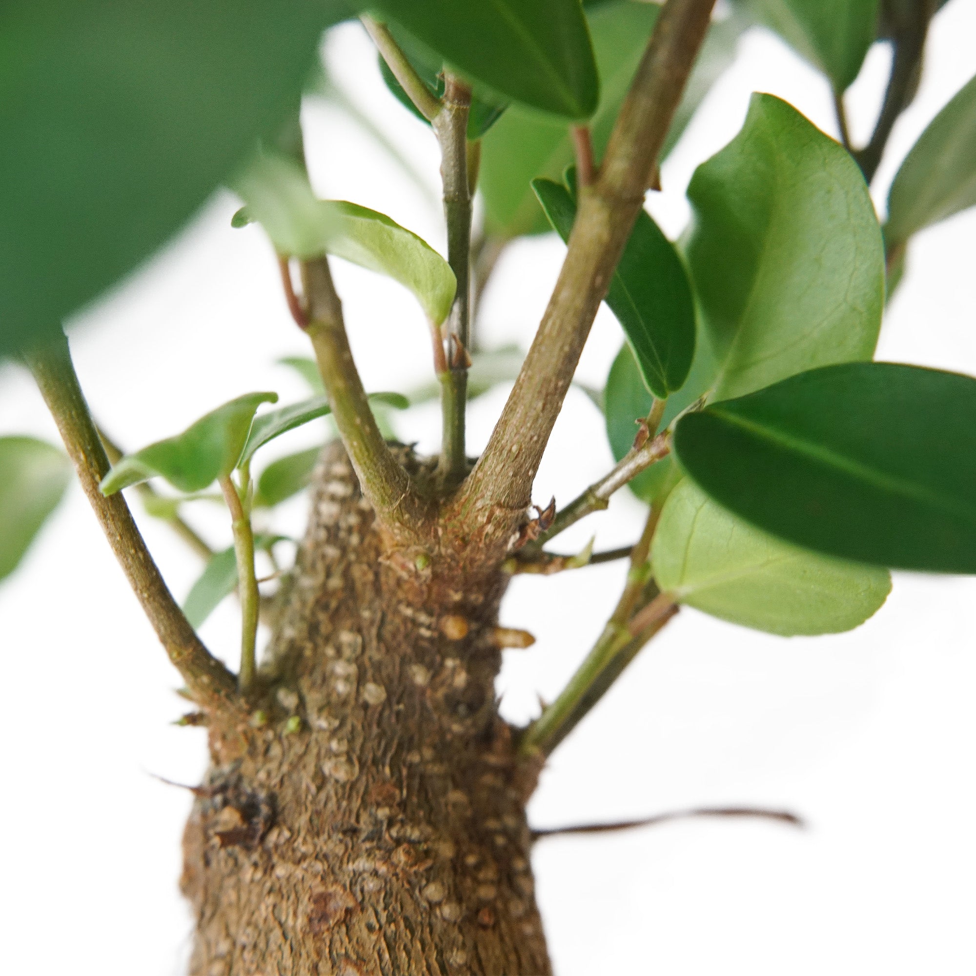
[[[440,174],[444,186],[447,261],[458,281],[448,317],[447,371],[441,384],[443,433],[439,472],[447,485],[468,473],[465,456],[465,410],[468,403],[468,345],[470,344],[471,191],[468,172],[468,110],[471,90],[456,75],[444,75],[444,98],[433,121],[440,143]]]

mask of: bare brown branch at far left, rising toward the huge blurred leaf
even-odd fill
[[[61,431],[105,538],[170,661],[183,676],[190,697],[209,712],[236,712],[239,700],[233,675],[190,627],[146,549],[122,493],[102,495],[100,485],[109,468],[108,458],[74,372],[67,340],[62,335],[49,346],[26,352],[24,359]]]

